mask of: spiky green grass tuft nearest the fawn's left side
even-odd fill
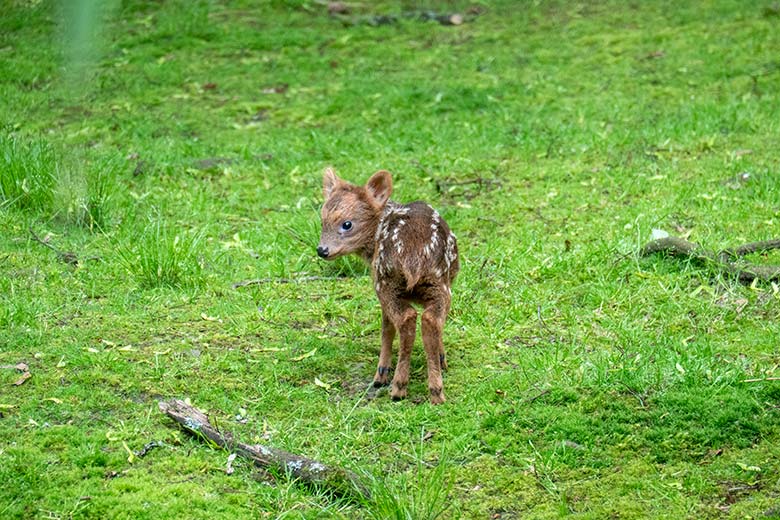
[[[153,217],[119,255],[143,288],[195,287],[203,281],[201,238]]]

